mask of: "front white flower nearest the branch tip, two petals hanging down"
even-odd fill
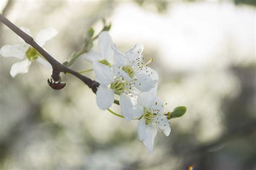
[[[127,121],[133,118],[133,104],[130,97],[134,97],[138,90],[134,87],[136,79],[125,80],[122,75],[123,70],[115,70],[110,67],[93,61],[93,70],[95,71],[95,79],[100,83],[96,100],[100,109],[110,108],[114,102],[114,94],[120,95],[120,107]],[[136,94],[138,95],[138,94]]]

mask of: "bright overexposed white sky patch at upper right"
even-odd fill
[[[164,15],[121,3],[112,15],[111,36],[117,42],[142,42],[159,51],[161,64],[197,69],[218,59],[234,62],[255,56],[255,10],[233,3],[174,3]],[[157,47],[155,47],[157,44]],[[147,49],[145,48],[145,51]],[[248,57],[250,59],[248,59]]]

